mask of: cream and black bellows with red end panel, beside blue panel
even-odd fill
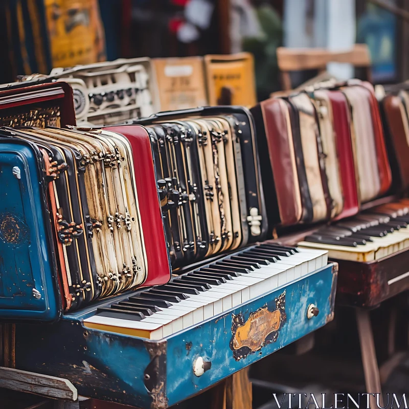
[[[7,133],[30,141],[43,157],[65,309],[169,280],[150,140],[143,127],[116,132],[25,127]]]

